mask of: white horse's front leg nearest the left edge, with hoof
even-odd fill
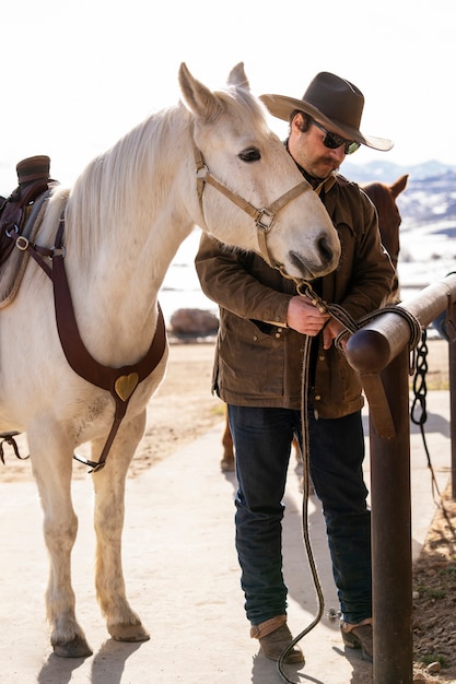
[[[78,518],[71,502],[73,450],[58,424],[27,431],[33,473],[44,511],[44,536],[49,554],[46,590],[50,642],[57,656],[85,658],[92,654],[75,618],[71,586],[71,551],[78,532]]]

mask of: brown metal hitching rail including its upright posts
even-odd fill
[[[456,274],[452,273],[401,302],[400,308],[418,319],[423,329],[445,310],[453,321],[455,300]],[[412,684],[413,676],[410,333],[406,319],[385,312],[355,332],[346,349],[350,365],[360,374],[370,408],[374,684]],[[452,463],[456,462],[455,347],[452,340]]]

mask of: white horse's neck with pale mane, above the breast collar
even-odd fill
[[[70,193],[66,267],[93,354],[106,339],[122,363],[132,342],[138,353],[149,346],[160,287],[198,216],[191,150],[185,108],[151,117],[94,160]]]

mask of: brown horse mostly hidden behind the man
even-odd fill
[[[406,189],[408,175],[400,176],[391,185],[379,182],[377,180],[361,185],[361,188],[375,204],[378,214],[378,228],[382,236],[382,243],[386,251],[389,253],[393,266],[397,269],[399,257],[399,226],[401,217],[396,204],[397,197]],[[396,278],[391,290],[390,303],[399,302],[399,280],[396,270]],[[300,446],[296,439],[293,440],[296,457],[300,458]],[[233,437],[226,415],[225,406],[225,428],[222,437],[223,458],[220,461],[222,472],[232,472],[234,470],[234,447]]]

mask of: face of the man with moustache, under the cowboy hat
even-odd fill
[[[301,130],[302,128],[304,128],[304,119],[301,114],[296,114],[291,123],[290,153],[311,176],[327,178],[346,158],[344,148],[343,145],[334,150],[326,148],[323,143],[324,131],[312,122],[306,131]]]

